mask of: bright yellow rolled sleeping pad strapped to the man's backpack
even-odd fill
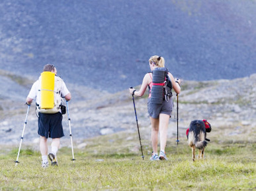
[[[53,72],[41,73],[41,109],[54,108],[54,77]]]

